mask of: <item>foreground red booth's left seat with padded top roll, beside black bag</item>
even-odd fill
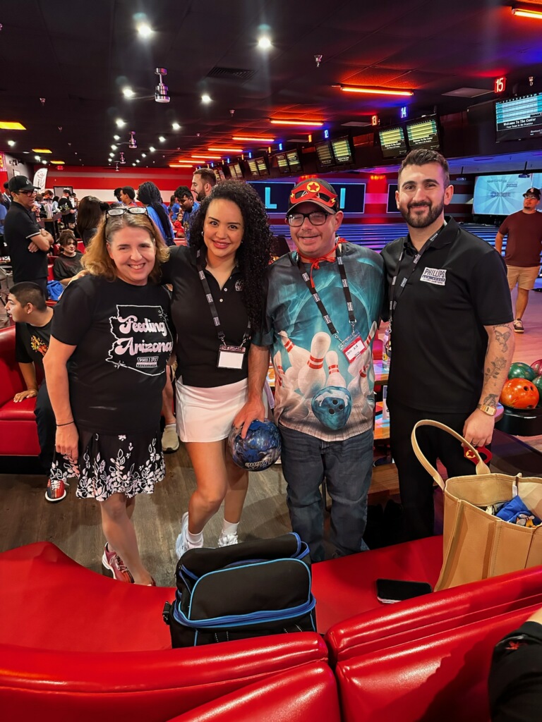
[[[172,650],[171,599],[173,589],[95,574],[48,542],[0,554],[2,718],[163,722],[327,661],[312,632]]]

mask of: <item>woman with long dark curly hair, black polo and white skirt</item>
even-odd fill
[[[171,251],[163,281],[173,284],[177,331],[177,431],[197,489],[182,518],[176,552],[203,546],[203,529],[224,501],[220,547],[237,543],[249,483],[226,448],[247,398],[247,350],[264,306],[271,233],[251,186],[223,181],[194,217],[190,247]]]

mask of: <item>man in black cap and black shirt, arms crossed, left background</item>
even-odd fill
[[[14,282],[32,281],[47,292],[47,254],[53,245],[53,236],[39,227],[31,212],[37,190],[24,175],[11,178],[12,205],[4,222],[4,239]]]

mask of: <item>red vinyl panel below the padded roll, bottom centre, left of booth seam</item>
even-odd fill
[[[171,722],[340,722],[335,677],[314,662],[197,707]]]

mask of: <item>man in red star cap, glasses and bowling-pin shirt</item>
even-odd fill
[[[275,366],[275,422],[293,531],[324,559],[320,484],[332,498],[328,551],[366,549],[373,461],[371,342],[382,304],[382,258],[337,238],[343,221],[335,188],[321,178],[291,191],[286,222],[297,251],[270,266],[262,328],[249,352],[249,401],[234,420],[246,434],[264,418],[269,352]]]

